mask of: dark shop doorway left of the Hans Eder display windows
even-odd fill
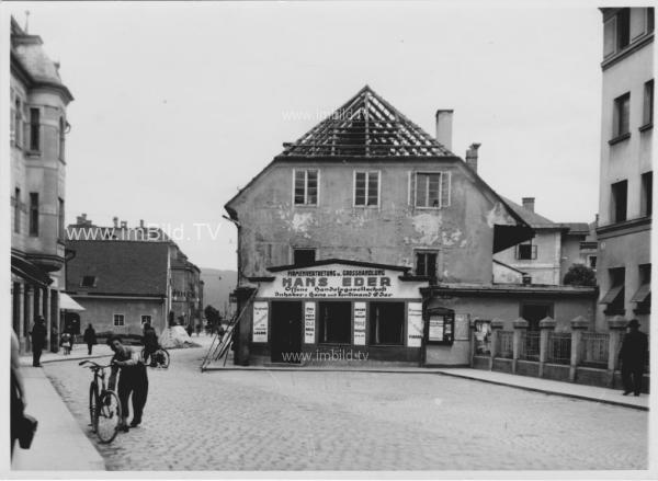
[[[271,355],[273,363],[299,363],[302,353],[302,302],[272,302]]]

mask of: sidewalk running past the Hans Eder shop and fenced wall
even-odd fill
[[[606,404],[633,408],[643,411],[649,410],[649,396],[642,394],[622,396],[620,389],[599,388],[595,386],[577,385],[572,382],[554,381],[530,376],[518,376],[513,374],[497,373],[491,370],[472,369],[468,367],[399,367],[399,366],[299,366],[272,364],[264,366],[236,366],[232,359],[228,359],[226,366],[212,363],[205,368],[206,371],[219,370],[297,370],[297,371],[353,371],[353,373],[395,373],[395,374],[433,374],[442,376],[460,377],[481,382],[507,386],[511,388],[525,389],[527,391],[543,392],[545,394],[564,396],[567,398],[582,399],[585,401],[603,402]]]

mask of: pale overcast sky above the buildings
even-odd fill
[[[453,108],[452,150],[480,142],[478,172],[500,195],[535,197],[554,221],[592,221],[601,13],[559,4],[0,7],[21,25],[30,11],[75,96],[67,222],[144,219],[202,268],[236,268],[226,202],[366,83],[432,135],[435,111]]]

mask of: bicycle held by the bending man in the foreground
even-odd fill
[[[91,431],[99,436],[103,444],[114,440],[121,423],[121,402],[116,392],[109,390],[105,382],[105,369],[111,366],[101,366],[93,360],[82,360],[79,366],[87,366],[93,373],[93,380],[89,385],[89,416]]]

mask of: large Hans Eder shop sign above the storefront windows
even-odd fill
[[[418,298],[427,282],[401,282],[398,271],[330,264],[276,273],[261,284],[260,297],[297,298]]]

